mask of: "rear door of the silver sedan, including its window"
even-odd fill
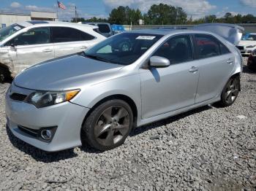
[[[208,34],[195,34],[199,81],[195,104],[219,95],[233,69],[235,56],[217,38]]]

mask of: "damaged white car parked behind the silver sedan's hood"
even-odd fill
[[[96,26],[75,23],[28,21],[15,23],[0,31],[1,81],[23,69],[75,52],[86,50],[106,39]]]

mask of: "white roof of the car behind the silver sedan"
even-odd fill
[[[75,26],[75,27],[88,27],[88,28],[98,28],[97,26],[91,26],[91,25],[79,25],[78,23],[69,23],[69,22],[61,22],[61,21],[45,21],[45,20],[31,20],[31,21],[25,21],[25,22],[18,22],[17,23],[20,26],[23,27],[29,27],[29,26]]]

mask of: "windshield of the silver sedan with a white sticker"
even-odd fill
[[[140,58],[162,35],[123,33],[106,39],[85,52],[86,57],[129,65]]]

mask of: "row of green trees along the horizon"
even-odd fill
[[[182,25],[200,23],[256,23],[254,15],[232,15],[227,12],[223,17],[217,18],[216,15],[207,15],[197,20],[192,20],[181,7],[173,7],[168,4],[153,4],[148,12],[142,15],[140,9],[119,6],[110,12],[108,19],[91,17],[90,19],[72,18],[71,22],[108,22],[120,25],[138,25],[139,20],[143,19],[146,25]]]

